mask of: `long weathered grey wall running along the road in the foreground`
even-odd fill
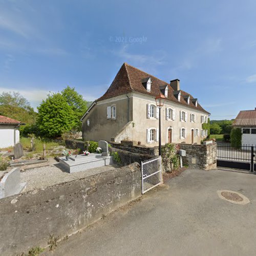
[[[46,247],[141,196],[140,165],[35,189],[0,200],[0,255]]]

